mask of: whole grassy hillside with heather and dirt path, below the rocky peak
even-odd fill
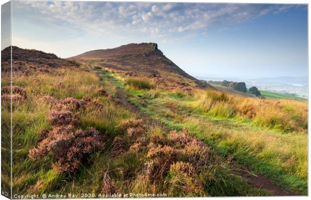
[[[306,102],[202,88],[156,67],[159,82],[146,76],[148,56],[128,64],[126,49],[76,62],[35,51],[50,67],[29,50],[17,52],[29,59],[13,72],[14,193],[307,193]],[[2,131],[10,129],[8,73]]]

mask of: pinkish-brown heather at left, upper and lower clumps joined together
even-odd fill
[[[66,98],[58,101],[48,113],[50,129],[42,129],[38,133],[37,147],[30,149],[29,157],[41,160],[52,156],[54,166],[61,173],[75,172],[85,157],[96,148],[103,148],[104,143],[99,132],[93,127],[80,129],[78,115],[92,103],[84,97],[81,100]]]

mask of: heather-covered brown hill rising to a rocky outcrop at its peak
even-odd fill
[[[98,49],[71,57],[109,68],[133,77],[148,77],[158,86],[174,89],[209,87],[189,75],[158,48],[157,43],[130,43],[111,49]]]

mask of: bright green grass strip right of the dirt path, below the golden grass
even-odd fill
[[[260,127],[249,125],[249,122],[226,120],[231,112],[218,117],[215,121],[209,114],[197,112],[183,105],[194,99],[184,99],[178,95],[162,94],[162,98],[145,99],[135,95],[130,99],[144,113],[153,119],[162,121],[170,129],[186,127],[196,137],[213,146],[224,159],[233,157],[237,164],[249,167],[275,181],[279,186],[290,191],[307,192],[307,135],[287,133],[278,130],[262,131]],[[145,103],[144,101],[148,101]],[[179,107],[172,110],[159,104],[175,104]],[[224,109],[224,108],[221,108]],[[223,120],[225,118],[225,120]]]

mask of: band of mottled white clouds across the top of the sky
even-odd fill
[[[174,39],[206,34],[228,25],[297,9],[291,4],[14,1],[16,14],[46,25],[103,35],[148,35]],[[224,29],[225,28],[225,29]],[[219,29],[219,28],[218,28]],[[177,38],[176,38],[177,37]]]

